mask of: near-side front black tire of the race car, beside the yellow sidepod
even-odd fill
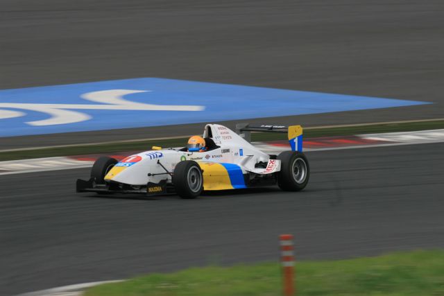
[[[174,168],[172,182],[181,198],[197,198],[203,191],[202,170],[197,162],[184,160]]]

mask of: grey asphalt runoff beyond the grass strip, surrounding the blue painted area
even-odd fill
[[[0,0],[0,28],[1,89],[176,78],[434,102],[255,122],[444,117],[442,0]],[[0,148],[201,130],[194,124],[14,137],[0,139]]]

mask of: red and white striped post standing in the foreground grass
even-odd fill
[[[282,280],[284,284],[284,296],[294,296],[294,255],[293,255],[293,235],[280,235],[280,250],[282,263]]]

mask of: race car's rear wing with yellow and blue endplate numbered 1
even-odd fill
[[[237,123],[236,133],[246,141],[251,141],[251,132],[287,132],[291,150],[302,151],[302,126],[300,125],[254,125]]]

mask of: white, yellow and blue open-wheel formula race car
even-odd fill
[[[205,148],[199,151],[153,147],[120,162],[100,157],[92,166],[89,180],[77,180],[76,191],[176,193],[181,198],[196,198],[202,191],[275,184],[284,191],[300,191],[307,186],[310,171],[302,153],[300,125],[238,124],[236,130],[219,124],[205,125]],[[252,131],[287,132],[291,150],[267,155],[249,143]]]

